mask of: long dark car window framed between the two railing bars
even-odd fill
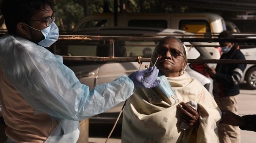
[[[151,57],[155,49],[154,41],[115,41],[115,57]],[[51,51],[61,56],[100,56],[108,57],[109,53],[108,40],[84,40],[57,41]]]

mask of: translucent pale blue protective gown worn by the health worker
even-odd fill
[[[36,113],[61,121],[45,143],[75,143],[79,120],[116,106],[135,91],[125,75],[89,91],[61,56],[44,47],[8,33],[0,37],[0,45],[0,68],[13,87]]]

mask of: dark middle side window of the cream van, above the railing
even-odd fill
[[[166,20],[129,20],[128,26],[167,28]]]

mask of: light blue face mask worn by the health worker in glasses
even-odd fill
[[[27,25],[27,24],[26,24]],[[27,25],[29,26],[29,25]],[[33,28],[29,26],[30,28]],[[59,38],[59,28],[58,26],[53,22],[50,24],[49,27],[43,29],[43,30],[38,30],[33,28],[34,30],[41,31],[42,34],[44,35],[45,39],[40,41],[38,44],[43,46],[43,47],[50,47],[54,42],[56,42]],[[27,35],[28,36],[28,35]],[[29,36],[28,36],[29,37]],[[31,37],[30,37],[31,38]],[[31,38],[32,39],[32,38]]]

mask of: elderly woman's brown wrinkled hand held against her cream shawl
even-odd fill
[[[181,106],[180,106],[181,105]],[[199,126],[199,113],[195,111],[187,103],[181,102],[180,105],[177,105],[177,109],[182,112],[183,121],[189,124],[190,126],[195,125]]]

